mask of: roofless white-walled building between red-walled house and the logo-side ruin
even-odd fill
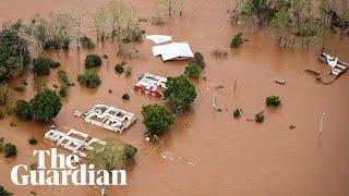
[[[86,123],[119,133],[122,133],[136,120],[134,113],[107,105],[96,105],[85,115]]]

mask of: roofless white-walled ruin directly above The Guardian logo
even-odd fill
[[[50,126],[45,133],[45,138],[50,139],[62,146],[65,149],[71,150],[74,155],[86,157],[88,150],[93,150],[92,144],[106,145],[107,143],[97,138],[91,137],[88,134],[79,132],[76,130],[70,130],[67,134],[58,131],[55,126]]]

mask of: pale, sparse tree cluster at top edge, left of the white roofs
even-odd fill
[[[97,40],[115,37],[122,42],[140,42],[144,33],[135,8],[121,0],[111,0],[97,8],[93,16],[93,30]]]

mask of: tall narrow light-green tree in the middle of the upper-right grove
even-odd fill
[[[287,33],[290,23],[290,17],[288,12],[285,9],[278,11],[273,20],[270,25],[272,35],[277,38],[277,41],[280,46],[286,46],[287,44]]]

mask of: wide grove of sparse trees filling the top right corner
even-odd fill
[[[249,25],[268,25],[280,46],[310,46],[318,42],[322,50],[328,45],[330,30],[338,27],[348,34],[348,0],[230,0],[234,22],[241,16]],[[347,30],[347,32],[346,32]]]

